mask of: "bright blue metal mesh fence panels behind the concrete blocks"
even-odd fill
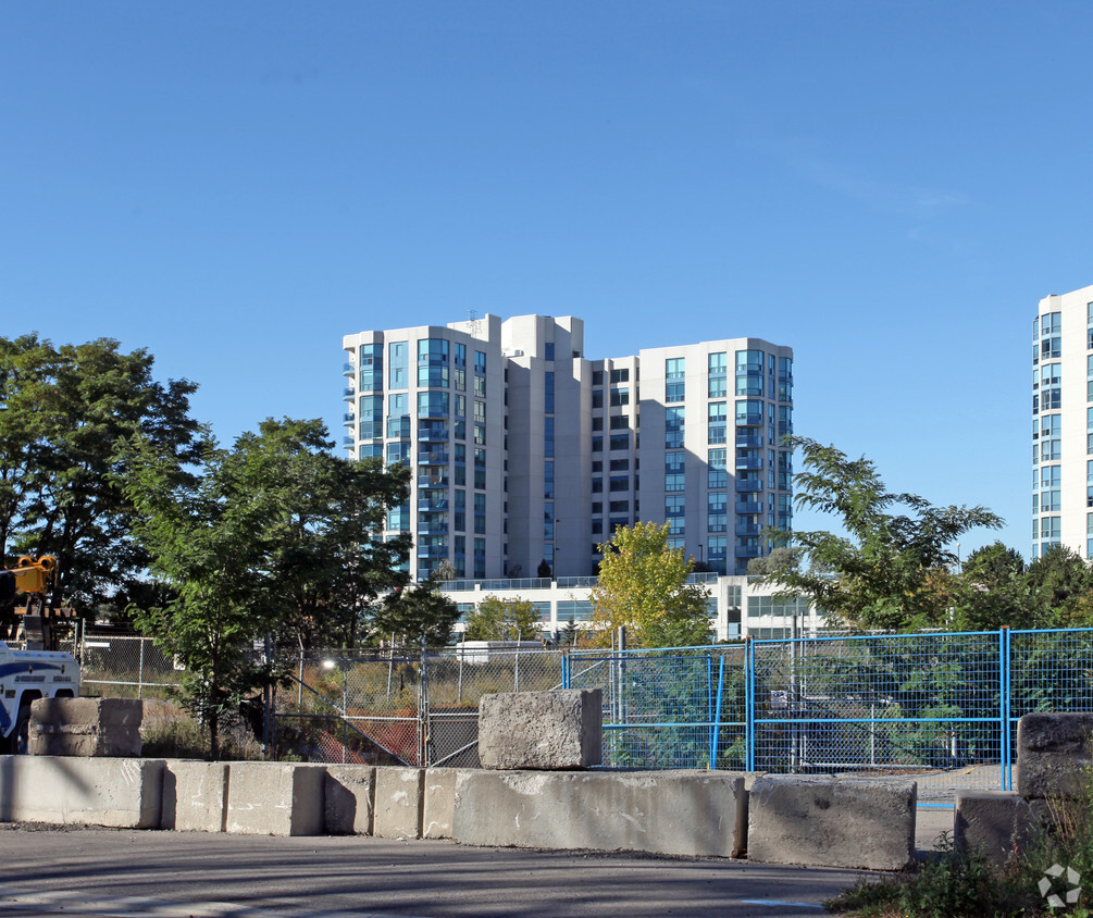
[[[922,800],[1012,788],[1016,722],[1093,710],[1093,629],[811,637],[575,651],[604,765],[914,777]]]

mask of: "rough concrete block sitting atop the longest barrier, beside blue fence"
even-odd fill
[[[507,692],[479,703],[483,768],[587,768],[603,761],[599,688]]]

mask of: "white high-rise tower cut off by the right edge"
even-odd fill
[[[1093,557],[1093,286],[1045,296],[1032,341],[1032,554]]]

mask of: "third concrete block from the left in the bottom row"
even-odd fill
[[[233,762],[224,828],[244,835],[321,835],[325,780],[321,765]]]

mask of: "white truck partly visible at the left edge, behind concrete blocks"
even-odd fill
[[[35,698],[74,698],[80,664],[59,650],[15,650],[0,640],[0,752],[22,754]]]

